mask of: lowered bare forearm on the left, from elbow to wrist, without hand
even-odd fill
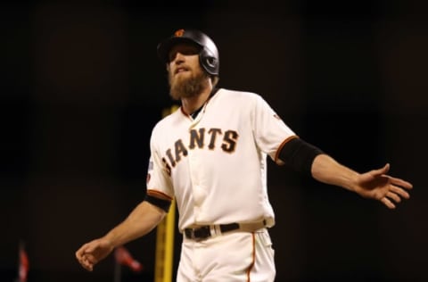
[[[136,206],[126,220],[103,236],[103,239],[109,241],[112,247],[124,245],[152,231],[165,214],[165,211],[144,201]]]

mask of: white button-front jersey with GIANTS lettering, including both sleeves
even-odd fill
[[[175,198],[178,228],[275,215],[268,201],[267,155],[295,137],[257,94],[218,89],[193,120],[178,109],[152,130],[147,190]]]

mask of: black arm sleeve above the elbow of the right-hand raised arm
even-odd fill
[[[315,145],[310,145],[300,138],[293,138],[285,143],[279,153],[279,159],[293,170],[312,176],[310,171],[312,162],[314,162],[315,157],[321,153],[323,153],[323,151],[318,149]]]

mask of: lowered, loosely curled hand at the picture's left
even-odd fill
[[[94,270],[94,266],[102,261],[111,251],[113,246],[109,241],[100,238],[82,245],[76,252],[78,262],[88,271]]]

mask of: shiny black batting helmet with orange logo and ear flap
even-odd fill
[[[172,37],[169,37],[162,41],[158,45],[158,56],[162,62],[169,62],[169,50],[172,46],[178,43],[193,43],[201,47],[199,53],[199,62],[201,62],[202,68],[207,71],[210,75],[218,76],[219,71],[219,59],[218,49],[206,34],[196,29],[178,29],[174,32]]]

